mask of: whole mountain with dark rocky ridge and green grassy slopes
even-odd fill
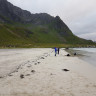
[[[0,46],[51,47],[94,44],[75,36],[59,16],[31,14],[0,0]]]

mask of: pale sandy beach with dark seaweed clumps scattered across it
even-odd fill
[[[96,96],[96,67],[64,49],[2,50],[0,96]]]

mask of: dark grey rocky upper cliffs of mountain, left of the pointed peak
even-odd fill
[[[12,5],[10,2],[7,2],[7,0],[0,0],[0,15],[15,22],[37,25],[51,23],[57,18],[54,18],[47,13],[31,14],[26,10],[22,10],[21,8]]]

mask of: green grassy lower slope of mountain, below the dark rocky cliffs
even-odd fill
[[[0,24],[0,47],[67,47],[78,44],[92,45],[92,41],[80,39],[72,33],[70,35],[69,37],[64,37],[56,29],[50,28],[49,25]]]

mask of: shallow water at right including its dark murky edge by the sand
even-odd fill
[[[84,50],[83,50],[84,49]],[[86,61],[87,63],[93,65],[96,67],[96,52],[91,52],[92,50],[95,50],[96,48],[76,48],[76,49],[69,49],[66,50],[68,53],[71,54],[71,56],[74,56],[74,53],[77,53],[77,57],[81,60]],[[90,50],[90,52],[88,52],[87,50]]]

